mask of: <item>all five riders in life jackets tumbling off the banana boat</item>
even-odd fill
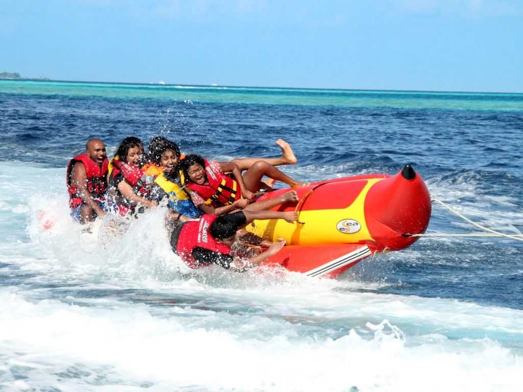
[[[260,219],[297,220],[295,212],[270,210],[297,203],[295,191],[254,203],[260,189],[270,190],[274,181],[291,188],[304,185],[275,167],[297,162],[287,142],[276,143],[281,157],[208,162],[198,155],[180,154],[177,144],[162,136],[153,137],[145,153],[142,141],[130,136],[109,160],[104,142],[90,139],[86,152],[67,165],[71,216],[85,224],[107,213],[133,218],[145,209],[167,205],[170,244],[190,268],[218,264],[245,271],[285,246],[283,239],[271,243],[245,232],[247,224]],[[254,247],[238,246],[247,242]]]

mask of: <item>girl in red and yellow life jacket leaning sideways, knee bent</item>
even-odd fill
[[[198,155],[188,155],[181,162],[183,183],[191,191],[192,201],[207,214],[221,215],[242,208],[253,201],[267,176],[291,187],[304,184],[283,174],[265,160],[258,160],[242,175],[234,162],[212,162]],[[225,173],[230,172],[232,176]]]

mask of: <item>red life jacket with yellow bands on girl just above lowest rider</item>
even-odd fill
[[[207,183],[198,185],[189,182],[187,188],[194,190],[205,199],[205,204],[212,204],[214,207],[232,204],[242,197],[242,192],[236,180],[214,170],[207,159],[203,159],[203,162],[205,163]]]

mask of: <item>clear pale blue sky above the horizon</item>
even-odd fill
[[[523,92],[523,0],[0,0],[0,72]]]

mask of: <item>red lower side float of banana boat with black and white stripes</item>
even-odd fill
[[[361,244],[289,245],[264,264],[277,263],[289,271],[333,278],[372,253]]]

